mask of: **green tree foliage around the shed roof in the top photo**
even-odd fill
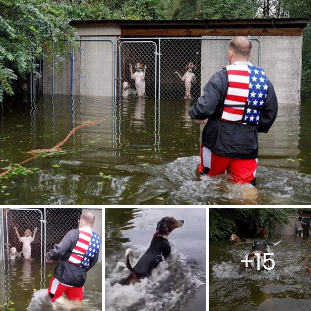
[[[61,70],[76,45],[70,20],[311,17],[311,0],[0,0],[0,100],[12,80],[33,73],[34,59]],[[302,91],[311,93],[311,24],[304,30]]]

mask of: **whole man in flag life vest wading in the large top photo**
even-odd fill
[[[210,78],[188,113],[195,122],[206,123],[198,171],[209,176],[227,172],[235,183],[255,185],[258,132],[271,128],[277,98],[264,70],[248,61],[251,49],[245,37],[230,41],[230,65]]]

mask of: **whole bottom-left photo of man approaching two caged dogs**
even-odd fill
[[[0,310],[102,310],[102,210],[0,208]]]

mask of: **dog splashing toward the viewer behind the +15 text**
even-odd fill
[[[272,253],[269,245],[275,246],[279,244],[281,241],[278,241],[276,243],[268,243],[264,240],[255,240],[253,243],[252,251],[248,254],[247,260],[250,260],[251,262],[248,262],[247,267],[248,269],[252,269],[253,273],[260,272],[264,270],[264,266],[266,267],[272,267],[272,261],[267,260],[264,262],[264,253]],[[256,254],[259,254],[259,270],[258,270],[258,256]],[[270,255],[266,255],[266,259],[271,259]],[[246,263],[243,262],[238,270],[238,274],[242,274],[245,270]],[[267,270],[269,271],[269,270]]]

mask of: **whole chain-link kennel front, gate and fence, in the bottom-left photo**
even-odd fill
[[[81,208],[9,208],[0,209],[0,260],[5,264],[9,260],[9,249],[16,247],[22,251],[22,243],[18,240],[14,226],[20,236],[30,229],[38,230],[31,243],[31,257],[45,265],[45,253],[61,241],[65,234],[78,228],[82,214]]]

